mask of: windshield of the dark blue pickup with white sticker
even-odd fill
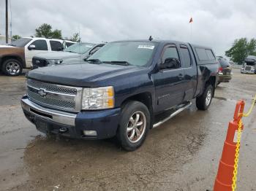
[[[156,42],[110,42],[91,55],[89,61],[145,66],[150,61],[155,47]]]

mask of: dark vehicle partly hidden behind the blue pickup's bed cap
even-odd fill
[[[230,82],[232,79],[232,66],[226,58],[221,56],[217,56],[217,60],[219,61],[219,70],[218,70],[218,85],[221,82]]]

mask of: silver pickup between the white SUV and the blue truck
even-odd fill
[[[54,66],[64,63],[78,63],[89,58],[94,52],[97,52],[104,43],[92,44],[86,42],[79,42],[67,47],[63,52],[47,52],[34,56],[32,69],[39,67]]]

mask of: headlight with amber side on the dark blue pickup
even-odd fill
[[[110,109],[114,107],[114,89],[112,86],[84,88],[82,109]]]

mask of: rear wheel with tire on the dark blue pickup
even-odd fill
[[[196,98],[197,109],[207,110],[211,105],[211,100],[214,95],[214,87],[207,85],[204,93],[200,97]]]

